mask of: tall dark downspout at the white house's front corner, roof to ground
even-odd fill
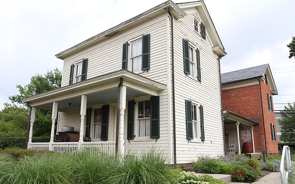
[[[173,114],[173,159],[174,168],[177,169],[176,163],[176,123],[175,123],[175,85],[174,85],[174,44],[173,44],[173,16],[168,8],[171,18],[171,64],[172,64],[172,114]],[[170,68],[169,68],[170,70]]]

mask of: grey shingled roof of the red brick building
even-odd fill
[[[234,82],[262,77],[268,66],[268,64],[264,64],[257,67],[245,68],[242,70],[221,74],[221,84],[230,84]]]

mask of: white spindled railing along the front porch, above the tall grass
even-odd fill
[[[52,144],[52,150],[50,145]],[[65,153],[75,153],[79,149],[84,149],[92,153],[101,152],[109,155],[115,155],[116,142],[83,142],[81,145],[79,142],[56,142],[56,143],[29,143],[31,150],[43,150],[43,151],[57,151]]]

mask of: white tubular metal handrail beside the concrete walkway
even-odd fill
[[[286,160],[287,170],[285,170],[285,160]],[[281,166],[280,166],[282,184],[288,183],[288,176],[291,170],[292,170],[292,165],[291,165],[290,148],[289,146],[284,146],[283,152],[282,152],[282,158],[281,158]]]

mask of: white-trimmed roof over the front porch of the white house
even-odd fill
[[[45,93],[23,98],[22,102],[30,103],[31,106],[39,107],[41,109],[51,109],[52,102],[63,102],[63,107],[60,106],[61,103],[58,105],[58,110],[63,111],[66,109],[66,105],[69,102],[79,102],[81,95],[89,95],[89,97],[92,97],[92,103],[100,103],[101,100],[99,100],[98,97],[105,101],[116,100],[120,78],[123,78],[123,85],[127,87],[127,98],[128,96],[141,95],[157,96],[158,91],[166,89],[166,85],[162,83],[127,70],[119,70],[47,91]]]

